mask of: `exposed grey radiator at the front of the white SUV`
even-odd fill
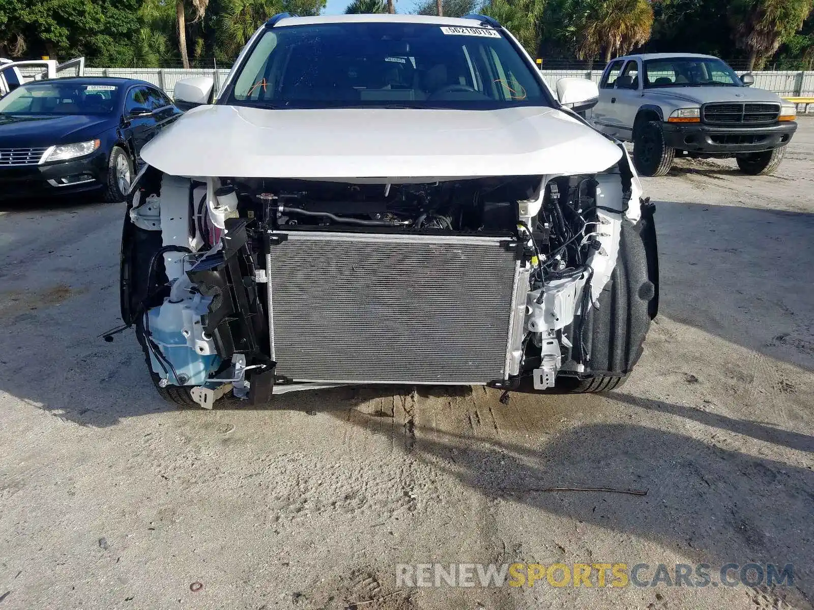
[[[266,259],[278,375],[411,384],[506,377],[519,274],[506,237],[282,237]]]

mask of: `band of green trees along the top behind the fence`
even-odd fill
[[[440,0],[440,8],[446,16],[495,17],[544,65],[641,48],[714,54],[736,65],[751,61],[755,68],[812,69],[812,2]],[[348,11],[387,12],[392,4],[353,0]],[[89,65],[111,68],[229,66],[272,15],[318,15],[324,7],[325,0],[0,0],[0,57],[84,55]],[[422,0],[416,10],[438,11],[439,0]]]

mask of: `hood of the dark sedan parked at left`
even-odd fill
[[[97,115],[0,115],[0,148],[85,142],[114,124]]]

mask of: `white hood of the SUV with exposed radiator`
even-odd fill
[[[619,146],[562,111],[203,106],[142,149],[175,176],[452,179],[601,172]],[[423,180],[422,180],[423,181]]]

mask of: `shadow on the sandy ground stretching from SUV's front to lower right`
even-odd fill
[[[814,530],[801,519],[810,514],[814,501],[814,471],[736,451],[731,448],[735,446],[735,439],[728,433],[746,434],[777,447],[799,451],[812,451],[814,437],[711,415],[681,404],[608,394],[606,398],[581,398],[584,402],[593,402],[597,408],[602,407],[600,401],[605,401],[610,408],[614,401],[628,403],[651,412],[695,420],[716,431],[705,441],[646,425],[588,423],[545,436],[545,442],[538,449],[538,443],[532,443],[532,447],[519,445],[510,440],[510,435],[484,438],[450,433],[435,426],[383,426],[381,418],[387,413],[369,412],[363,405],[377,397],[387,399],[391,396],[390,390],[392,388],[365,389],[356,399],[351,398],[350,402],[357,403],[352,417],[348,417],[346,404],[326,406],[323,411],[344,422],[360,425],[370,434],[388,439],[394,434],[400,435],[402,442],[392,444],[400,447],[405,455],[440,468],[462,486],[488,499],[522,503],[576,523],[647,538],[666,549],[664,558],[593,557],[594,561],[650,564],[652,567],[642,572],[643,580],[654,576],[655,564],[662,561],[674,564],[675,560],[668,559],[673,553],[689,558],[685,563],[711,564],[714,580],[718,580],[716,570],[729,562],[777,564],[781,569],[786,564],[794,564],[793,587],[779,586],[773,590],[743,587],[743,590],[760,608],[778,607],[778,600],[800,604],[794,605],[795,608],[812,607],[814,573],[810,551]],[[404,391],[409,395],[409,389]],[[331,394],[341,396],[339,390],[332,390]],[[430,394],[441,396],[443,390],[432,390]],[[325,403],[335,404],[330,399]],[[454,406],[455,401],[450,405]],[[523,409],[521,405],[520,417],[524,415]],[[645,420],[647,414],[641,415]],[[548,431],[550,423],[538,418],[541,429]],[[716,434],[720,432],[724,434]],[[523,433],[534,434],[535,425],[523,429]],[[737,447],[742,445],[738,443]],[[755,453],[764,452],[756,448]],[[542,491],[562,486],[646,490],[647,494]],[[482,518],[492,517],[484,514]],[[556,532],[540,535],[562,542]],[[523,539],[515,542],[523,543]],[[580,555],[573,555],[584,553],[586,549],[590,556],[590,542],[582,544],[587,547],[564,551],[568,560],[578,560]],[[550,560],[534,559],[544,563]],[[431,561],[432,558],[413,560]],[[499,562],[513,560],[519,558],[504,556]],[[673,572],[672,568],[670,571]],[[765,596],[763,600],[760,595]]]

